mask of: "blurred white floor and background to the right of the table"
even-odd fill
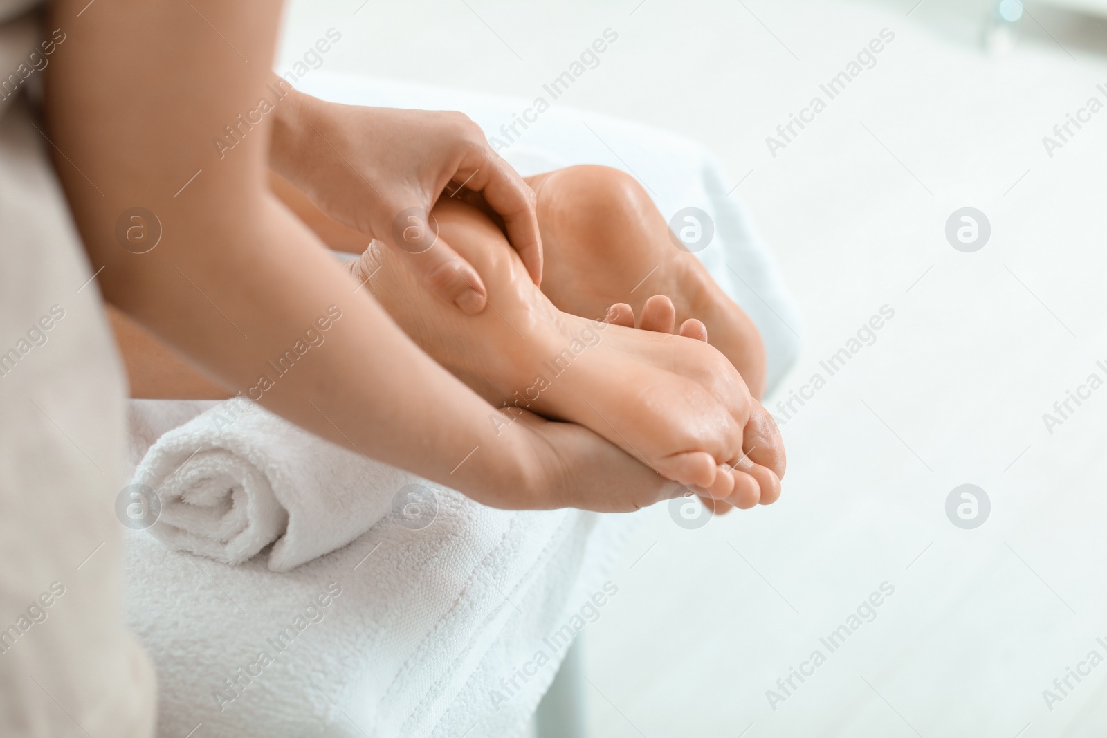
[[[334,27],[330,71],[526,98],[615,30],[558,104],[721,157],[806,319],[774,413],[896,311],[783,428],[777,505],[699,530],[666,506],[641,513],[619,596],[584,633],[596,736],[1107,734],[1107,665],[1043,696],[1062,696],[1054,679],[1088,652],[1107,656],[1107,389],[1052,434],[1042,417],[1107,378],[1107,111],[1052,157],[1042,142],[1089,97],[1107,103],[1107,21],[1028,3],[1012,49],[989,54],[991,13],[956,0],[288,9],[278,69]],[[774,157],[766,136],[882,29],[894,41],[876,65]],[[966,206],[992,229],[974,253],[944,235]],[[973,530],[945,514],[961,484],[991,499]],[[766,690],[828,654],[820,636],[883,582],[894,594],[876,620],[774,709]]]

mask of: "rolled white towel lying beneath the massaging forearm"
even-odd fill
[[[132,484],[157,493],[149,531],[166,545],[238,564],[276,541],[283,572],[364,533],[415,481],[234,398],[158,438]]]

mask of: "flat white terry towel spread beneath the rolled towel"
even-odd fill
[[[207,406],[133,401],[132,456]],[[441,488],[434,499],[425,528],[390,512],[287,573],[131,531],[130,625],[157,667],[158,735],[520,735],[566,636],[620,596],[604,584],[635,516],[494,510]]]

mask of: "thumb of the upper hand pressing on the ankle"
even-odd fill
[[[480,274],[438,235],[434,214],[423,208],[405,208],[393,219],[384,240],[438,299],[462,312],[476,315],[488,300]]]

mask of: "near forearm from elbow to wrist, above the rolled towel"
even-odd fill
[[[221,249],[182,250],[172,264],[141,269],[107,261],[108,299],[220,384],[301,427],[475,497],[506,492],[497,482],[519,469],[493,408],[423,355],[365,290],[354,293],[290,214],[266,209],[238,232],[228,224]],[[476,447],[484,453],[454,471]]]

